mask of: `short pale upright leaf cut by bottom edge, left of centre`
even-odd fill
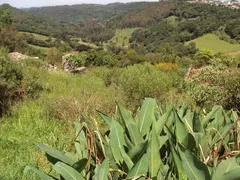
[[[106,158],[101,165],[97,165],[95,169],[95,180],[107,180],[109,173],[108,159]]]

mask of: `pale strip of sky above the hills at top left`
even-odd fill
[[[8,3],[17,8],[72,5],[72,4],[109,4],[114,2],[158,1],[158,0],[0,0],[0,4]]]

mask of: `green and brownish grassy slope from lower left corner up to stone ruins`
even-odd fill
[[[96,71],[102,72],[102,69]],[[39,98],[19,103],[11,116],[0,121],[0,179],[37,179],[23,175],[30,164],[49,170],[45,156],[34,142],[48,144],[59,151],[71,151],[75,132],[73,122],[80,113],[95,117],[95,109],[115,111],[122,97],[107,88],[93,70],[84,76],[64,72],[41,73],[44,89]],[[99,122],[101,123],[101,122]]]

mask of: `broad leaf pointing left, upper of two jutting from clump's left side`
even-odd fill
[[[36,143],[36,145],[46,153],[47,158],[52,164],[56,164],[58,161],[62,161],[66,164],[69,164],[72,166],[74,164],[74,161],[68,158],[66,155],[60,153],[59,151],[56,151],[53,148],[50,148],[49,146],[46,146],[44,144]]]

